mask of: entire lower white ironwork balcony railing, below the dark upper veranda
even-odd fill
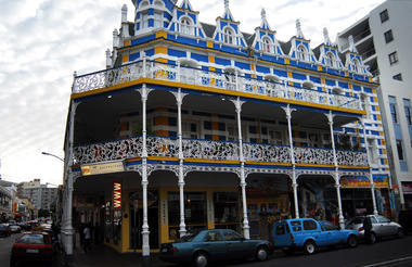
[[[239,143],[199,139],[183,139],[184,158],[239,161]],[[178,157],[179,141],[169,137],[147,137],[147,155],[158,157]],[[291,163],[291,150],[287,145],[243,143],[246,162]],[[333,165],[331,149],[295,147],[297,164]],[[142,155],[142,138],[134,137],[117,141],[78,145],[74,155],[79,164],[93,164],[121,161]],[[339,166],[366,166],[366,153],[363,151],[337,150]]]

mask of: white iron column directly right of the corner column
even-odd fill
[[[178,64],[180,66],[180,64]],[[183,237],[186,233],[186,225],[184,223],[184,174],[183,174],[183,141],[182,141],[182,102],[183,97],[182,89],[179,88],[179,91],[176,97],[176,102],[178,105],[178,137],[179,137],[179,195],[180,195],[180,237]]]

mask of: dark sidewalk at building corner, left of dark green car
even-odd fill
[[[157,257],[157,253],[151,254],[151,266],[162,267],[170,266],[162,262]],[[64,267],[63,255],[56,257],[56,264],[53,266]],[[126,253],[120,254],[114,249],[106,245],[93,245],[87,254],[80,249],[76,247],[74,251],[74,260],[72,267],[137,267],[142,266],[142,258],[140,253]]]

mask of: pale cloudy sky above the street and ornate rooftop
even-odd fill
[[[182,0],[179,0],[180,4]],[[215,24],[223,0],[191,0],[202,22]],[[383,0],[231,0],[241,30],[253,34],[260,11],[280,41],[296,34],[301,22],[312,48],[327,27],[334,41],[339,30],[365,16]],[[105,50],[120,27],[121,7],[131,0],[0,0],[0,175],[21,182],[41,179],[61,185],[63,143],[73,74],[105,68]]]

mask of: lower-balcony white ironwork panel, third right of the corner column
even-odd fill
[[[275,144],[244,143],[243,153],[246,161],[291,163],[288,147]]]

